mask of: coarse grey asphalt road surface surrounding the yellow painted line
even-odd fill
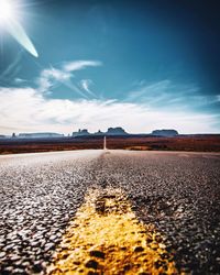
[[[56,265],[54,252],[65,242],[68,231],[74,232],[78,227],[78,239],[81,232],[86,235],[84,241],[87,240],[88,229],[82,228],[89,222],[96,226],[97,217],[106,211],[102,209],[103,198],[108,199],[107,210],[114,209],[116,205],[123,208],[117,210],[118,220],[128,213],[124,222],[133,222],[134,218],[130,217],[134,213],[141,224],[153,227],[158,232],[163,239],[163,245],[158,240],[158,246],[166,251],[168,256],[164,257],[170,257],[168,261],[172,263],[164,267],[164,273],[220,274],[220,154],[127,151],[0,156],[0,274],[50,273],[48,266],[53,261]],[[98,208],[97,213],[91,215],[88,204],[92,199]],[[84,212],[87,222],[81,226]],[[108,222],[110,216],[105,213],[105,222]],[[69,226],[75,219],[78,224]],[[135,221],[124,230],[135,227],[139,230],[143,226]],[[101,230],[105,229],[100,228],[99,235]],[[70,234],[76,242],[78,239]],[[156,242],[153,242],[155,246]],[[73,245],[65,250],[74,253]],[[141,253],[143,250],[138,246],[134,251]],[[140,254],[140,258],[146,254]],[[94,252],[92,256],[105,261],[100,251]],[[138,257],[139,254],[135,261]],[[94,260],[85,265],[85,270],[78,273],[132,274],[133,268],[130,263],[122,271],[117,267],[113,272],[112,266],[109,267],[112,272],[101,273]],[[139,263],[135,268],[144,271],[141,265]],[[157,265],[160,271],[158,262]]]

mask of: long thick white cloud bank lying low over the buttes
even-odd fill
[[[147,108],[117,100],[48,99],[33,88],[0,88],[0,133],[90,131],[121,125],[133,133],[174,128],[182,133],[219,132],[218,116]],[[8,129],[8,130],[7,130]]]

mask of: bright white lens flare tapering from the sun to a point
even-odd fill
[[[0,0],[0,28],[6,29],[30,54],[38,57],[33,43],[16,18],[16,2]]]

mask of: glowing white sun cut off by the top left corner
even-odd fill
[[[0,23],[15,20],[15,7],[12,0],[0,0]]]

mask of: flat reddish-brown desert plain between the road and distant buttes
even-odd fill
[[[102,148],[103,138],[62,138],[50,140],[19,140],[0,141],[0,154],[34,153],[69,150]],[[109,136],[107,147],[110,150],[138,151],[193,151],[220,152],[220,135],[186,135],[176,138],[153,136]]]

